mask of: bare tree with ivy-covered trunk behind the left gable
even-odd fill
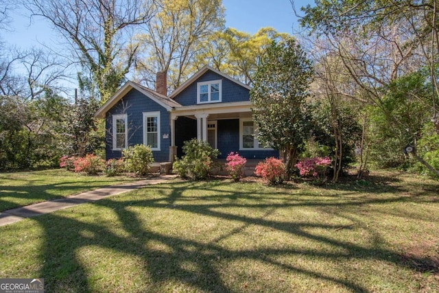
[[[155,0],[32,0],[25,7],[43,16],[67,40],[90,71],[101,102],[117,91],[134,62],[130,29],[148,23]]]

